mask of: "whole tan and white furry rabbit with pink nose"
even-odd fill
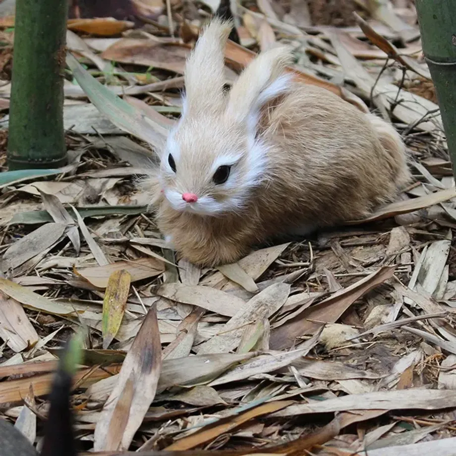
[[[393,126],[294,81],[285,48],[260,54],[224,93],[230,24],[204,30],[185,70],[181,119],[144,181],[159,229],[189,261],[237,261],[252,245],[361,219],[410,179]]]

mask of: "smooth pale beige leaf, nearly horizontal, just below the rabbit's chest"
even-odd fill
[[[209,286],[164,284],[159,286],[155,292],[172,301],[202,307],[228,317],[232,317],[245,307],[242,299]]]

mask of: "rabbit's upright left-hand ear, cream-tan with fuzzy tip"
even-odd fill
[[[225,45],[232,22],[218,17],[207,25],[185,64],[183,115],[205,112],[223,105]]]

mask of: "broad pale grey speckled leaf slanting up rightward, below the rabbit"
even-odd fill
[[[288,284],[273,284],[251,298],[224,325],[222,334],[218,334],[198,346],[198,354],[224,353],[234,350],[242,339],[246,324],[263,321],[277,312],[286,302],[290,292]]]

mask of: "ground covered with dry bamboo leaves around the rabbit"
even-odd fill
[[[56,356],[80,332],[81,451],[453,455],[456,191],[413,3],[234,11],[228,83],[251,51],[291,44],[297,77],[394,121],[415,179],[369,219],[218,269],[177,261],[134,185],[218,2],[73,3],[68,165],[0,173],[2,418],[40,448]],[[2,150],[13,23],[0,21]]]

